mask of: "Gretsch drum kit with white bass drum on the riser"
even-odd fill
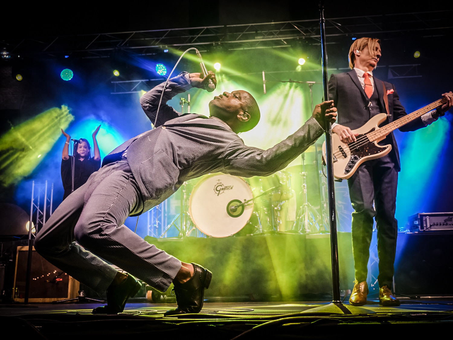
[[[300,185],[291,185],[294,175],[299,177]],[[217,173],[184,182],[180,189],[181,213],[161,237],[172,226],[178,228],[179,237],[327,232],[325,201],[319,199],[318,185],[318,194],[313,197],[318,198],[320,212],[308,202],[307,180],[316,182],[313,175],[319,176],[314,165],[302,164],[267,177]],[[299,189],[299,195],[295,189]]]

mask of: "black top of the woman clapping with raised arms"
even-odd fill
[[[71,166],[70,156],[67,160],[61,160],[61,179],[63,181],[64,195],[65,199],[69,194],[71,194],[72,189],[72,166]],[[74,166],[74,190],[81,187],[85,182],[87,182],[90,175],[99,170],[101,167],[101,160],[94,160],[93,158],[76,160]]]

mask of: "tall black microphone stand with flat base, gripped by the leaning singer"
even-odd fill
[[[324,3],[319,2],[319,24],[321,28],[321,52],[323,65],[323,87],[324,100],[328,100],[328,79],[327,79],[327,52],[326,52],[326,32],[324,19]],[[365,308],[343,305],[340,300],[340,274],[338,270],[338,240],[337,240],[337,214],[335,211],[335,189],[333,178],[333,159],[332,159],[332,126],[330,121],[326,121],[326,165],[327,165],[327,190],[329,203],[329,224],[330,224],[330,248],[332,256],[332,296],[330,304],[306,310],[308,313],[331,313],[331,314],[366,314],[375,313]]]

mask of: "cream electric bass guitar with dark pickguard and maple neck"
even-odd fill
[[[379,127],[383,121],[386,120],[385,113],[379,113],[372,117],[365,125],[362,125],[353,133],[358,133],[356,136],[357,141],[351,143],[343,143],[336,133],[332,134],[332,157],[333,157],[333,175],[336,178],[346,180],[351,177],[366,160],[374,160],[387,155],[392,146],[378,145],[390,132],[401,126],[413,121],[414,119],[424,115],[426,112],[434,110],[436,107],[443,105],[447,102],[445,98],[439,99],[436,102],[422,107],[396,121]],[[340,113],[341,114],[341,113]],[[326,157],[326,142],[323,143],[323,155]]]

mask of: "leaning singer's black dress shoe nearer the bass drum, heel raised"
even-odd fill
[[[199,313],[203,307],[204,290],[209,287],[212,272],[193,264],[193,276],[184,283],[174,282],[174,293],[178,308],[166,311],[164,316]]]

